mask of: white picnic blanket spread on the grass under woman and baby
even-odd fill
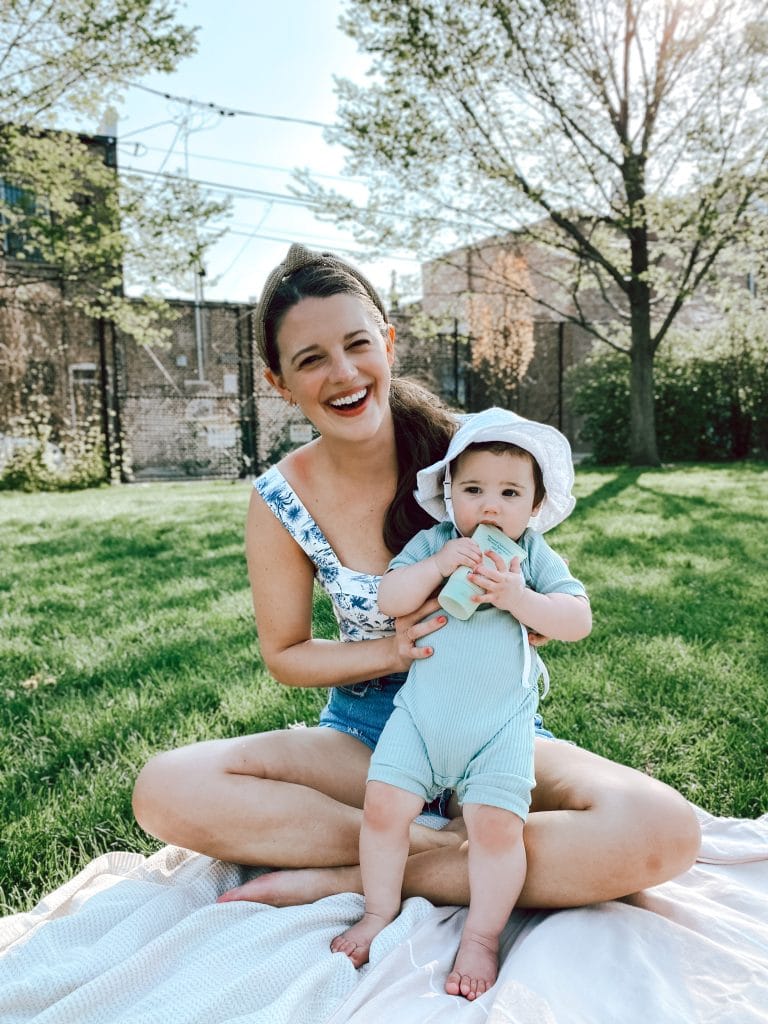
[[[355,971],[329,943],[359,896],[216,904],[243,869],[176,847],[106,854],[0,920],[0,1021],[765,1024],[768,814],[698,814],[685,874],[615,902],[515,910],[499,979],[474,1002],[442,990],[465,908],[407,900]]]

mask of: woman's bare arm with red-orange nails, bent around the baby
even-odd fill
[[[257,492],[246,522],[246,557],[261,655],[287,686],[338,686],[392,672],[408,672],[429,648],[415,641],[439,628],[419,622],[436,602],[397,618],[396,632],[382,640],[341,643],[312,636],[314,569],[307,556]]]

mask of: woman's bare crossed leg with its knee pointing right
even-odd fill
[[[519,906],[583,906],[659,885],[695,860],[690,805],[670,786],[568,743],[536,741],[537,785],[523,829],[527,873]],[[459,838],[459,831],[453,838]],[[447,837],[446,837],[447,838]],[[415,852],[402,895],[468,904],[466,844]],[[259,898],[287,906],[361,892],[357,867],[264,876]]]

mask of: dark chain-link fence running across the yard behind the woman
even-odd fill
[[[24,373],[4,381],[0,368],[7,411],[22,400],[18,385],[26,383],[32,391],[42,389],[54,425],[100,422],[112,474],[122,479],[251,476],[311,438],[299,410],[263,379],[253,346],[253,307],[172,302],[171,310],[170,340],[155,346],[137,345],[102,324],[79,324],[75,331],[59,322],[55,344],[46,335],[34,348],[25,346]],[[458,322],[438,333],[402,312],[393,322],[396,374],[459,410],[489,403],[473,368],[472,339]],[[575,446],[579,423],[564,380],[591,341],[564,324],[538,324],[523,379],[497,400],[557,426]]]

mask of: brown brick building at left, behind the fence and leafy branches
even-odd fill
[[[117,139],[75,143],[103,165],[99,187],[109,188]],[[171,301],[170,340],[150,345],[86,316],[69,301],[75,290],[114,288],[121,269],[82,267],[77,280],[72,267],[46,263],[29,225],[55,227],[55,218],[44,196],[9,173],[0,168],[0,463],[42,422],[54,444],[95,425],[112,475],[123,479],[245,475],[306,436],[261,384],[249,305]],[[94,197],[86,188],[75,205],[100,210]]]

